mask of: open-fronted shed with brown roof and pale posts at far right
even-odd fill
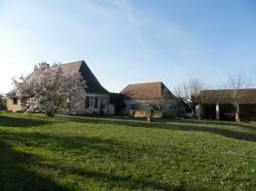
[[[235,120],[236,111],[229,99],[229,91],[203,90],[201,104],[197,106],[196,115],[205,119]],[[256,117],[256,89],[241,89],[239,111],[241,118]]]

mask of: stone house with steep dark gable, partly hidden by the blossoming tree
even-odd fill
[[[80,72],[84,80],[87,81],[87,96],[81,100],[78,107],[71,111],[72,114],[91,114],[104,113],[109,111],[109,92],[102,87],[99,81],[95,78],[91,69],[84,60],[71,62],[61,65],[63,71],[77,71]],[[16,91],[13,90],[7,94],[7,110],[21,111],[22,104],[25,99],[19,98]]]

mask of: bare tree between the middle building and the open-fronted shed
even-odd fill
[[[201,103],[200,93],[204,85],[201,80],[192,79],[174,89],[174,94],[180,98],[195,114],[197,105]]]

